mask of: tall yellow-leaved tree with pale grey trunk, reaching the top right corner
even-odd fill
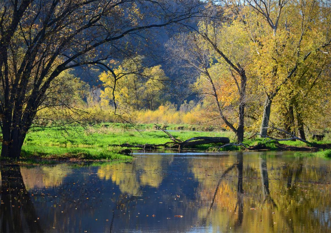
[[[266,94],[260,127],[260,135],[265,137],[271,104],[280,90],[287,89],[289,82],[300,80],[300,69],[306,69],[308,64],[313,65],[310,67],[312,70],[320,70],[328,61],[326,54],[329,52],[324,50],[331,46],[331,8],[328,1],[318,0],[252,0],[248,3],[250,8],[243,8],[241,14],[246,16],[245,25],[256,48],[256,75],[260,77],[262,90]],[[316,53],[325,55],[324,62],[311,62],[312,59],[319,59]],[[283,105],[282,112],[286,130],[292,131],[295,127],[295,98],[298,96],[294,98],[292,92],[287,93],[285,98],[291,101]],[[305,137],[300,116],[299,124],[300,134]]]

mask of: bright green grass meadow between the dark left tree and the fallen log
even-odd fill
[[[161,126],[161,125],[160,125]],[[163,126],[164,127],[164,126]],[[170,125],[167,128],[182,128],[182,125]],[[185,128],[193,126],[186,125]],[[162,144],[169,137],[160,130],[155,130],[153,124],[132,125],[120,123],[102,123],[87,129],[77,126],[63,131],[59,128],[32,128],[26,135],[21,158],[27,163],[35,163],[41,159],[75,159],[75,160],[119,160],[131,161],[131,156],[118,153],[124,149],[110,147],[110,144]],[[176,138],[188,139],[195,136],[233,136],[231,132],[171,132]],[[201,149],[208,148],[202,146]],[[29,160],[31,160],[29,162]]]

